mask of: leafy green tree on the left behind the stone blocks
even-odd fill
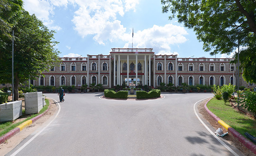
[[[54,31],[49,31],[36,16],[22,10],[15,32],[14,45],[14,99],[18,100],[18,85],[29,78],[35,79],[43,71],[49,70],[49,65],[59,62],[58,51],[52,41]],[[12,81],[12,42],[6,39],[6,46],[0,51],[0,83]]]

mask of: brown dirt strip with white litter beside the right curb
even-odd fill
[[[204,104],[208,101],[209,99],[206,99],[202,101],[201,103],[198,104],[198,111],[201,113],[204,117],[205,120],[207,120],[215,129],[221,128],[223,132],[227,132],[227,130],[222,127],[221,125],[218,124],[204,109]],[[255,155],[252,151],[250,151],[247,147],[245,147],[238,139],[236,139],[232,134],[228,134],[223,137],[224,139],[229,142],[230,145],[235,146],[237,149],[241,151],[241,153],[244,153],[244,155],[247,156],[252,156]]]

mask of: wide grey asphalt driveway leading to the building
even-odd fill
[[[45,95],[59,101],[57,94]],[[194,103],[211,93],[166,93],[163,99],[146,101],[104,100],[101,95],[66,94],[58,117],[17,155],[233,155],[194,113]]]

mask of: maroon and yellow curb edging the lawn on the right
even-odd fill
[[[210,99],[211,100],[211,99]],[[230,127],[228,124],[226,124],[224,121],[220,120],[215,114],[213,114],[208,108],[207,103],[210,101],[208,100],[204,104],[204,109],[210,116],[217,121],[220,125],[222,125],[227,131],[229,131],[235,138],[237,138],[245,147],[247,147],[249,150],[251,150],[254,154],[256,154],[256,145],[249,141],[247,138],[242,136],[238,131],[236,131],[234,128]]]

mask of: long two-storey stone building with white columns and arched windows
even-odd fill
[[[224,85],[237,83],[236,64],[231,58],[177,58],[177,55],[155,55],[153,49],[113,48],[110,55],[87,55],[87,58],[60,58],[59,66],[49,67],[30,83],[36,86],[82,86],[102,84],[149,85],[161,82],[189,85]],[[253,87],[240,73],[240,86]]]

